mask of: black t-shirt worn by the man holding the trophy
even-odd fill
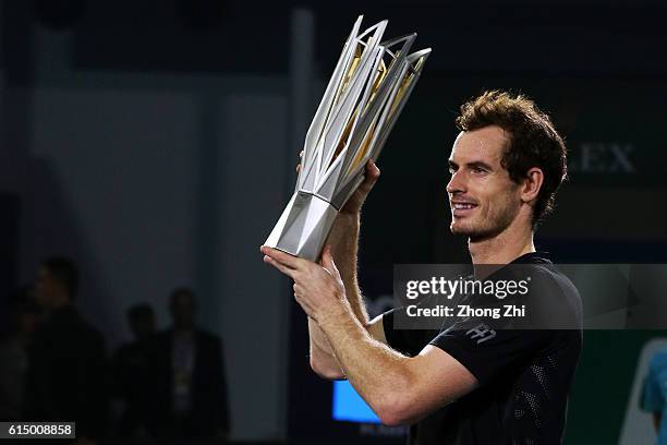
[[[383,316],[390,347],[415,356],[426,345],[434,345],[478,381],[476,389],[412,425],[410,444],[561,443],[568,393],[581,350],[581,300],[572,282],[544,254],[529,253],[512,264],[532,269],[529,301],[544,301],[549,311],[557,308],[561,320],[563,314],[570,317],[570,328],[496,325],[493,336],[485,336],[490,328],[482,318],[466,318],[434,332],[395,329],[393,317],[404,309]]]

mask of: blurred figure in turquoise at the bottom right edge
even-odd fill
[[[651,358],[648,375],[644,381],[641,408],[653,414],[657,433],[657,445],[667,444],[667,350],[658,351]]]

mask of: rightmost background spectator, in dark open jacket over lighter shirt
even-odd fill
[[[169,309],[173,325],[159,334],[156,377],[162,437],[175,443],[191,438],[223,442],[229,413],[222,342],[196,326],[192,290],[175,289]]]

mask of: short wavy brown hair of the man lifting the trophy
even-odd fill
[[[463,104],[454,122],[461,131],[498,125],[509,133],[500,164],[512,181],[526,178],[533,167],[543,171],[544,182],[533,208],[536,227],[554,209],[556,192],[568,171],[565,143],[549,117],[525,96],[489,91]]]

